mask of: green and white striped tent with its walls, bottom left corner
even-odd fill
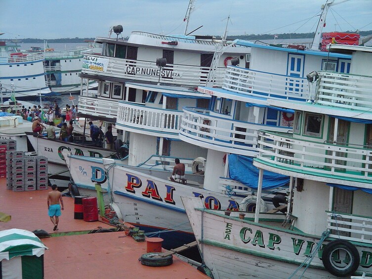
[[[0,278],[44,278],[47,247],[33,233],[11,229],[0,232]]]

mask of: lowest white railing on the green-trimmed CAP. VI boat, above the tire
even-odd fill
[[[327,229],[331,238],[372,243],[372,218],[339,212],[327,212]]]

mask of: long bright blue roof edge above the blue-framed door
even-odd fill
[[[294,52],[294,53],[300,53],[300,54],[308,54],[308,55],[329,56],[329,57],[348,58],[348,59],[351,58],[351,56],[347,54],[330,53],[327,51],[320,51],[320,50],[314,50],[314,49],[299,50],[295,48],[279,47],[279,46],[268,45],[268,44],[257,44],[257,43],[254,43],[248,40],[237,40],[235,44],[250,46],[250,47],[255,47],[255,48],[264,48],[264,49],[272,49],[272,50],[292,52],[292,53]]]

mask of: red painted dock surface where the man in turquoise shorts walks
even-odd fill
[[[53,233],[46,203],[47,193],[51,190],[14,193],[6,190],[5,184],[5,179],[1,178],[0,211],[11,215],[11,221],[0,222],[0,230],[43,229]],[[60,217],[58,233],[110,228],[99,221],[74,219],[74,199],[63,197],[63,201],[65,210]],[[123,232],[117,232],[41,239],[49,248],[44,254],[45,278],[209,278],[176,256],[173,256],[173,264],[167,267],[144,266],[138,259],[146,253],[146,242],[136,242],[123,236]]]

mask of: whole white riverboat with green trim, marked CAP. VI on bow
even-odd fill
[[[312,102],[269,100],[295,110],[293,132],[259,132],[263,170],[289,175],[285,220],[184,205],[214,278],[340,278],[372,275],[371,47],[332,44],[352,54],[350,73],[322,71]],[[313,82],[315,80],[312,80]]]

